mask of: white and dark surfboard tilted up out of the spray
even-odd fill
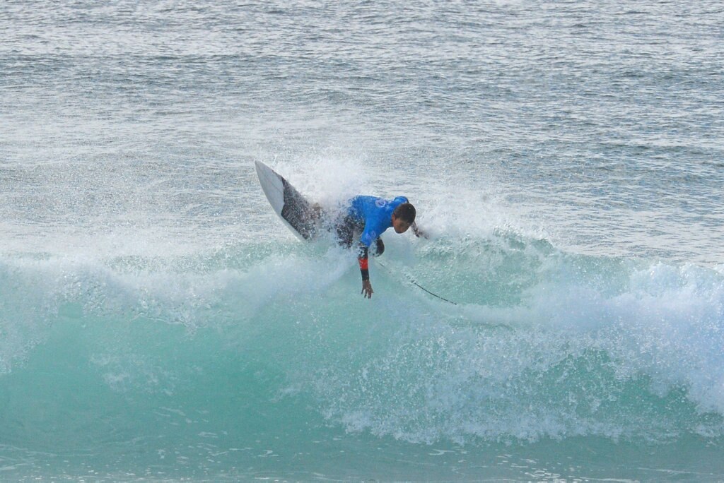
[[[284,176],[266,164],[261,161],[254,161],[254,164],[261,189],[274,213],[299,239],[315,239],[319,234],[319,205],[309,201]]]

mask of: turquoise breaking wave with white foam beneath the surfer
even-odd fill
[[[96,391],[188,410],[190,388],[253,367],[248,411],[304,400],[295,417],[414,443],[724,435],[722,270],[506,229],[386,244],[371,300],[324,244],[3,255],[0,385],[51,358]]]

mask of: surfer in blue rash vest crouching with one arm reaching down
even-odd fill
[[[342,246],[350,248],[355,234],[360,234],[357,258],[362,273],[362,295],[367,299],[374,293],[369,281],[369,255],[379,256],[384,252],[384,243],[379,236],[392,227],[395,233],[405,233],[412,228],[415,236],[426,237],[416,225],[415,215],[415,207],[404,196],[394,200],[355,196],[350,200],[345,217],[337,223],[337,237]]]

